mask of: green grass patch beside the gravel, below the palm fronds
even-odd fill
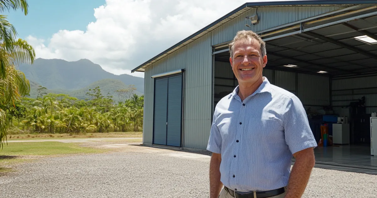
[[[12,171],[9,166],[14,163],[31,161],[38,157],[80,154],[80,153],[101,153],[105,149],[93,149],[90,147],[81,147],[75,143],[61,142],[8,142],[0,150],[0,173]]]

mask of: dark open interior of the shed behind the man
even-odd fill
[[[321,125],[328,125],[331,141],[315,149],[317,162],[377,170],[369,120],[377,112],[377,16],[368,16],[371,12],[375,10],[304,24],[279,34],[262,33],[268,57],[264,76],[300,98],[317,143],[322,139]],[[346,18],[351,20],[343,20]],[[294,34],[300,29],[304,31]],[[274,38],[279,35],[286,36]],[[213,109],[238,85],[224,49],[226,45],[214,47],[220,53],[213,55]],[[338,124],[338,117],[344,123]]]

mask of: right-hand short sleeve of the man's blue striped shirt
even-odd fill
[[[310,147],[317,147],[305,109],[296,96],[288,100],[283,124],[285,142],[292,154]]]

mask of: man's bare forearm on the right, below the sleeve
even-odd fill
[[[288,181],[285,198],[301,198],[308,184],[311,170],[316,163],[313,148],[308,148],[293,154],[296,159]]]

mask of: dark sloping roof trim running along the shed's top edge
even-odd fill
[[[194,34],[190,35],[189,37],[185,38],[184,40],[180,41],[179,43],[173,45],[169,49],[161,52],[160,54],[156,55],[155,57],[149,59],[148,61],[144,62],[143,64],[139,65],[137,68],[132,69],[131,73],[137,71],[138,69],[143,68],[143,66],[146,66],[148,64],[151,64],[152,61],[156,60],[157,58],[166,55],[168,52],[172,51],[173,53],[175,48],[184,45],[184,43],[188,42],[186,45],[191,43],[192,41],[200,38],[202,35],[207,34],[208,32],[204,33],[205,31],[208,31],[210,28],[212,28],[215,25],[218,25],[218,23],[221,23],[224,20],[227,20],[228,18],[235,15],[237,12],[242,11],[244,12],[248,11],[249,9],[256,8],[256,7],[262,7],[262,6],[308,6],[308,5],[318,5],[318,6],[324,6],[324,5],[344,5],[344,4],[372,4],[376,3],[376,0],[297,0],[297,1],[276,1],[276,2],[252,2],[252,3],[244,3],[243,5],[239,6],[238,8],[234,9],[233,11],[229,12],[228,14],[224,15],[223,17],[219,18],[218,20],[214,21],[210,25],[205,26],[204,28],[200,29],[199,31],[195,32]],[[244,13],[242,12],[242,13]],[[233,18],[238,17],[234,16]],[[233,18],[230,18],[228,21],[232,20]],[[225,23],[227,23],[226,21]],[[223,25],[223,24],[221,24]],[[212,31],[212,30],[210,30]],[[204,34],[203,34],[204,33]],[[202,34],[202,35],[200,35]],[[196,38],[195,38],[196,37]],[[185,45],[184,45],[185,46]],[[183,46],[182,46],[183,47]],[[176,49],[178,50],[178,49]]]

